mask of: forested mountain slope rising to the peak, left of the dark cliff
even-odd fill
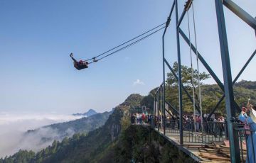
[[[129,96],[125,105],[122,103],[114,108],[105,125],[87,135],[77,133],[73,137],[65,137],[37,153],[20,150],[11,157],[0,159],[0,162],[113,162],[114,145],[121,133],[122,121],[129,122],[129,116],[123,117],[129,115],[129,104],[140,106],[142,98],[138,94]]]

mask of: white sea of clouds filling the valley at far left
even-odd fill
[[[11,155],[18,150],[39,150],[51,145],[53,140],[61,140],[58,130],[40,128],[53,123],[62,123],[82,118],[81,116],[60,115],[57,113],[5,113],[0,112],[0,158]],[[27,130],[38,129],[33,133]],[[68,136],[74,134],[72,129],[65,131]],[[47,140],[42,138],[47,137]]]

